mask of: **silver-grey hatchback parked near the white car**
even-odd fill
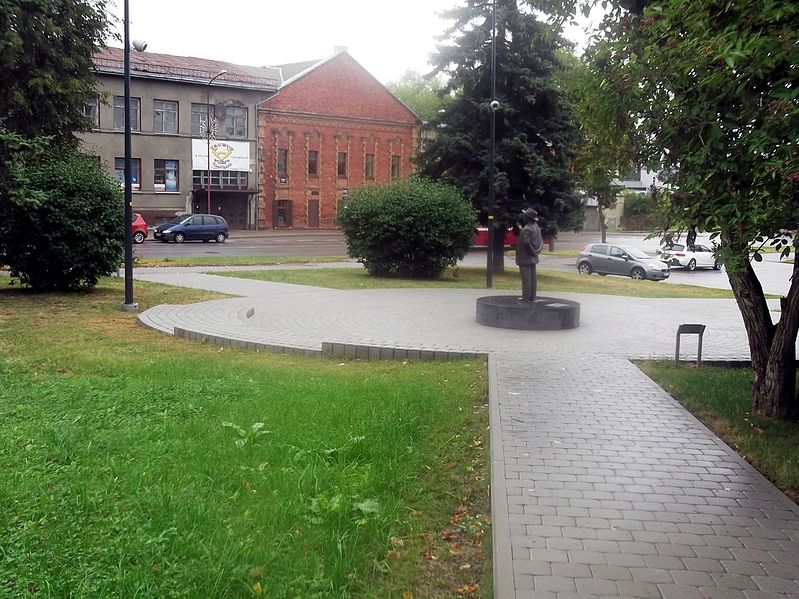
[[[662,281],[669,278],[669,265],[627,245],[592,243],[577,255],[580,274],[622,275],[631,279]]]

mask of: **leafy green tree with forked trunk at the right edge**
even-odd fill
[[[663,228],[717,234],[749,337],[753,407],[797,417],[799,237],[783,233],[799,227],[799,5],[635,4],[604,23],[596,109],[608,123],[638,123],[642,157],[665,166],[674,192]],[[776,324],[750,262],[752,244],[768,239],[784,257],[794,252]]]

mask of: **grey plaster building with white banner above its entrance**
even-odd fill
[[[84,108],[94,127],[83,145],[123,183],[123,51],[102,49],[94,63],[100,95]],[[280,70],[147,52],[131,52],[130,70],[133,210],[150,225],[210,211],[233,229],[255,228],[258,104],[280,87]]]

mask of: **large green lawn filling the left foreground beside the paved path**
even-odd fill
[[[7,280],[0,596],[492,595],[482,362],[220,349],[137,325],[121,278]]]

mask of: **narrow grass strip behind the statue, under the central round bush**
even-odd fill
[[[314,285],[333,289],[383,289],[398,287],[450,287],[479,289],[485,287],[485,269],[463,267],[447,269],[440,279],[389,279],[370,276],[363,268],[318,268],[296,270],[250,270],[213,273],[220,276]],[[497,289],[519,289],[521,281],[517,270],[507,269],[494,274]],[[633,281],[626,277],[600,277],[553,270],[538,271],[538,291],[571,291],[575,293],[601,293],[630,297],[683,297],[732,299],[732,291],[710,289],[694,285],[669,285],[655,281]]]

